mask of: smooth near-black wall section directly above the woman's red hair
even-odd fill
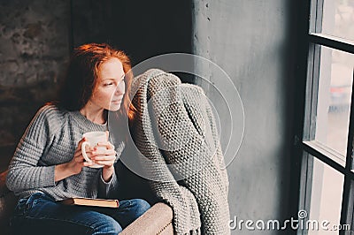
[[[138,64],[170,52],[190,53],[190,1],[72,1],[73,46],[109,42]]]

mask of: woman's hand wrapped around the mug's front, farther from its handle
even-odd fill
[[[99,147],[105,147],[105,149]],[[97,147],[92,151],[92,154],[94,156],[91,157],[91,160],[94,163],[104,165],[102,171],[104,181],[110,181],[114,171],[114,163],[116,161],[116,152],[114,151],[113,145],[109,141],[106,143],[98,143]]]

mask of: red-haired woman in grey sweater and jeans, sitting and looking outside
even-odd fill
[[[83,133],[107,131],[108,111],[133,117],[128,57],[107,44],[74,49],[59,101],[43,106],[19,141],[7,186],[19,196],[12,227],[26,234],[117,234],[150,205],[120,201],[119,208],[66,206],[71,197],[112,198],[119,191],[114,171],[125,144],[108,139],[81,153]],[[123,140],[124,138],[122,138]],[[102,168],[90,168],[92,164]]]

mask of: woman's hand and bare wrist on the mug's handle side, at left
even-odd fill
[[[88,163],[85,161],[83,158],[82,152],[81,152],[81,145],[85,141],[85,138],[82,138],[82,140],[79,141],[77,148],[75,149],[75,153],[73,154],[73,159],[72,161],[68,163],[62,163],[58,164],[55,166],[55,172],[54,172],[54,178],[55,182],[58,182],[64,178],[68,178],[70,176],[79,174],[82,171],[82,167],[84,166],[90,166],[93,163]],[[89,148],[86,150],[86,153],[88,156],[92,155],[92,150]]]

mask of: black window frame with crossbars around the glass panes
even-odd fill
[[[307,0],[300,1],[297,5],[297,92],[294,116],[294,159],[292,162],[293,186],[289,209],[292,216],[296,216],[300,209],[309,211],[312,192],[312,165],[313,159],[317,158],[344,176],[340,224],[350,224],[351,231],[342,230],[339,231],[339,234],[351,234],[354,229],[354,172],[351,170],[354,136],[354,83],[350,103],[350,124],[345,166],[333,160],[335,155],[331,153],[330,148],[320,146],[316,144],[316,141],[312,141],[315,139],[315,126],[313,123],[316,123],[320,46],[339,49],[354,55],[353,41],[327,34],[311,33],[319,32],[317,29],[321,27],[323,3],[324,0]],[[296,233],[307,234],[307,231],[298,230]]]

